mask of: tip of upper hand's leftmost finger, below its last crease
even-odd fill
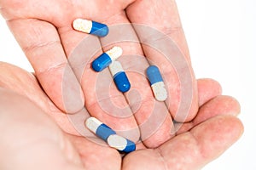
[[[84,107],[84,94],[79,81],[67,64],[44,72],[36,72],[44,92],[56,107],[68,114],[76,113]]]

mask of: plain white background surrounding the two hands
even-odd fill
[[[203,169],[256,169],[256,1],[177,0],[177,6],[196,77],[214,78],[236,97],[245,126],[241,139]],[[32,71],[2,16],[0,61]]]

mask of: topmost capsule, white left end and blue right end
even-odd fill
[[[98,37],[105,37],[108,35],[108,26],[93,20],[84,20],[84,19],[74,20],[73,28],[76,31],[82,31],[88,34],[93,34]]]

